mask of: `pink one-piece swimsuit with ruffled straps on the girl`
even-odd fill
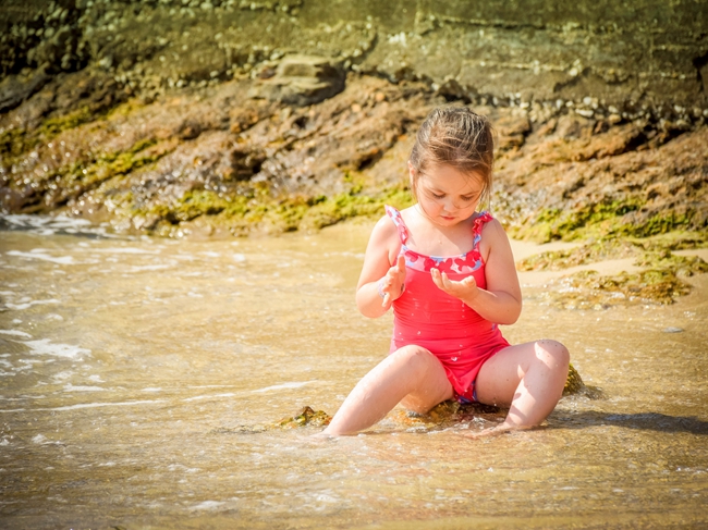
[[[488,212],[474,221],[473,248],[462,256],[439,258],[424,256],[406,247],[408,230],[401,212],[390,206],[386,213],[399,230],[401,254],[405,257],[405,292],[393,303],[393,336],[391,350],[415,344],[435,355],[448,375],[455,398],[461,403],[476,400],[475,380],[481,365],[509,346],[497,324],[485,320],[460,299],[439,289],[430,269],[445,272],[460,281],[472,274],[480,288],[486,288],[485,263],[479,241]]]

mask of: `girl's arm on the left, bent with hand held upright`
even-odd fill
[[[356,306],[365,317],[380,317],[401,296],[405,259],[399,256],[400,249],[398,229],[384,215],[371,231],[356,286]]]

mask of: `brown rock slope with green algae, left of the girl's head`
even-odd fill
[[[383,180],[365,173],[422,119],[430,93],[401,93],[373,78],[350,85],[305,109],[258,103],[251,118],[231,103],[247,100],[248,82],[183,90],[171,100],[129,102],[98,124],[72,122],[33,152],[11,128],[3,145],[17,157],[2,159],[3,208],[68,210],[120,231],[179,236],[319,229],[378,214],[383,201],[411,204],[400,169]],[[194,111],[180,115],[184,104]],[[96,141],[107,152],[95,153]],[[17,170],[21,181],[9,177]]]

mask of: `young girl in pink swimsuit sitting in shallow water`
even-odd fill
[[[500,432],[538,426],[567,377],[569,353],[554,341],[511,346],[521,288],[506,234],[477,207],[489,197],[493,139],[489,121],[465,107],[434,110],[411,152],[417,204],[386,207],[366,249],[356,289],[363,315],[393,306],[390,355],[342,404],[325,434],[353,434],[396,404],[427,412],[439,403],[509,407]]]

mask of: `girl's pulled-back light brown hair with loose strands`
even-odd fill
[[[434,109],[420,125],[411,151],[413,195],[417,196],[416,184],[420,173],[432,165],[451,165],[481,180],[479,204],[483,204],[491,195],[493,159],[493,132],[486,116],[467,107]]]

